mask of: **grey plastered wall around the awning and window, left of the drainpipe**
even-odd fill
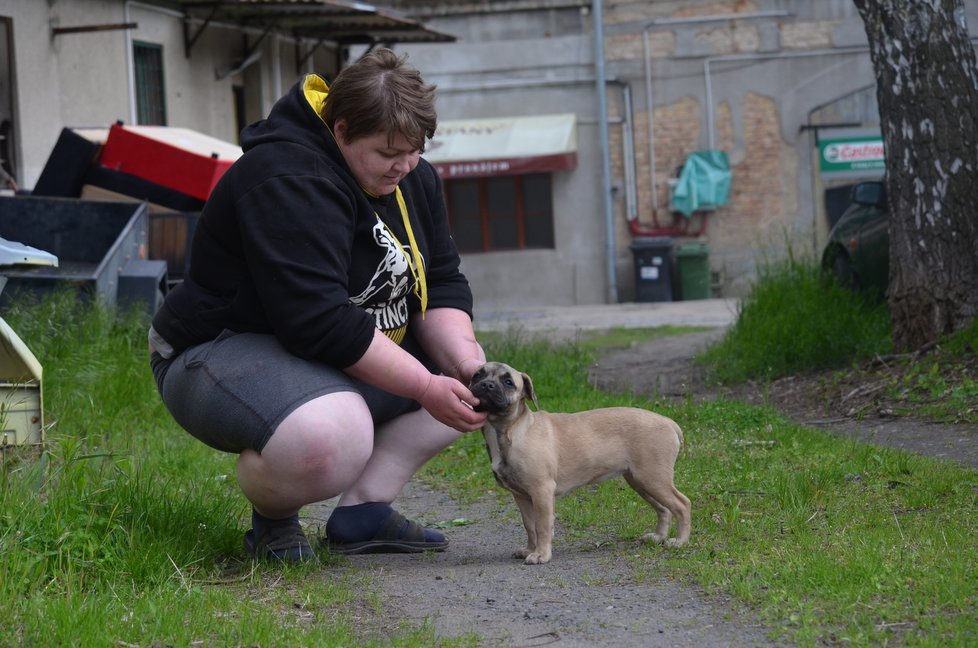
[[[458,34],[472,25],[466,21],[437,28]],[[455,27],[461,29],[453,31]],[[525,17],[523,27],[523,33],[535,31]],[[510,38],[502,44],[460,41],[403,45],[397,51],[407,53],[425,80],[438,86],[439,119],[577,115],[577,167],[551,174],[554,249],[462,255],[480,308],[607,301],[593,39],[565,35]]]

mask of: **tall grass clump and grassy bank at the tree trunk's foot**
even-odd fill
[[[727,335],[697,357],[719,383],[822,372],[847,409],[978,423],[978,321],[927,350],[894,355],[887,304],[789,258],[762,268]]]

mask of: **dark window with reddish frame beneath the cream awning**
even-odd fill
[[[445,195],[460,252],[554,247],[550,174],[446,180]]]

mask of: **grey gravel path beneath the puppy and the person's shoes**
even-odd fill
[[[427,524],[468,521],[447,529],[448,551],[345,559],[340,571],[367,576],[384,601],[386,619],[364,619],[376,634],[430,619],[438,636],[475,635],[485,646],[775,645],[749,613],[676,583],[659,564],[639,558],[634,543],[574,544],[558,521],[553,560],[523,565],[510,557],[525,541],[515,505],[491,500],[460,506],[412,482],[397,502],[403,513]],[[326,505],[314,515],[325,520],[328,511]],[[635,581],[636,560],[645,561],[641,569],[655,574],[653,582]]]

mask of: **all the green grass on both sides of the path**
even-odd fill
[[[826,340],[827,331],[809,329],[839,322],[849,332],[843,364],[885,350],[885,317],[833,291],[801,266],[772,271],[711,352],[714,361],[736,360],[741,375],[791,371],[811,360],[783,347]],[[809,300],[821,304],[815,311],[835,313],[800,303]],[[0,646],[343,646],[369,636],[370,615],[383,610],[361,577],[323,578],[328,565],[244,560],[248,509],[234,457],[171,420],[153,386],[138,315],[80,307],[62,295],[4,318],[44,365],[50,428],[39,460],[5,461],[0,473]],[[840,440],[767,408],[655,401],[588,384],[601,349],[679,332],[613,331],[559,346],[514,335],[484,340],[491,358],[532,368],[544,409],[637,405],[683,426],[676,480],[693,502],[693,535],[679,550],[629,551],[637,577],[730,595],[778,642],[978,644],[978,473]],[[946,344],[967,355],[976,341],[972,329]],[[907,380],[933,388],[936,374],[922,369]],[[422,476],[461,500],[509,501],[479,434],[465,435]],[[654,520],[620,480],[569,495],[557,512],[564,543],[632,540]],[[383,639],[476,641],[436,638],[427,624]]]

